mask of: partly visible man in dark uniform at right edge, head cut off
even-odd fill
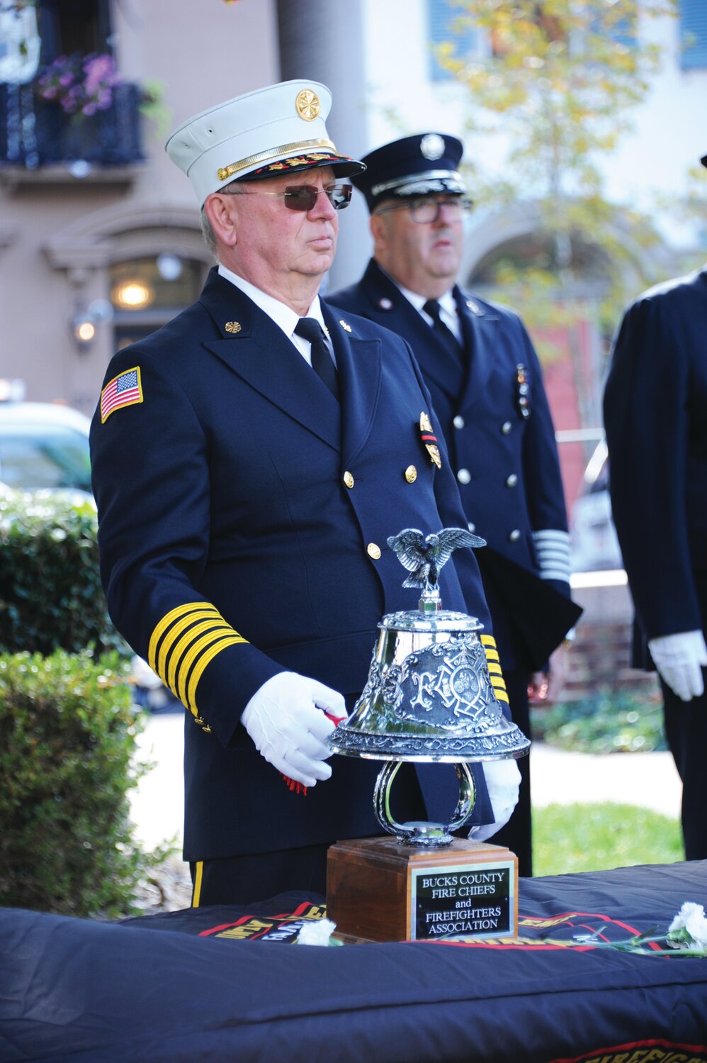
[[[626,310],[604,423],[611,510],[636,609],[634,663],[658,670],[683,780],[685,855],[705,860],[707,267],[644,291]]]

